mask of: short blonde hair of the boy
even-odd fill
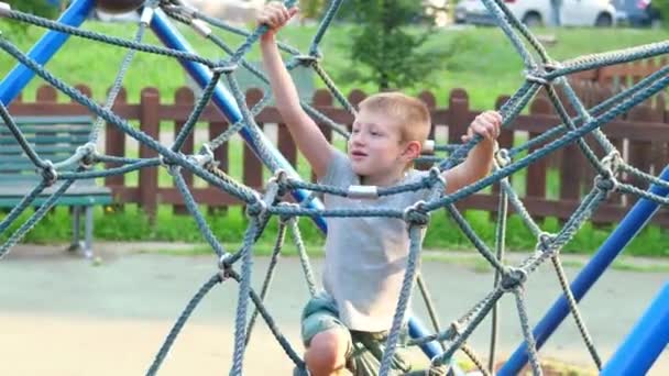
[[[430,111],[414,97],[402,92],[380,92],[365,98],[360,109],[379,111],[396,119],[399,123],[401,141],[418,141],[423,144],[430,133]]]

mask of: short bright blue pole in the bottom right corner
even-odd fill
[[[613,354],[600,375],[645,375],[669,343],[669,283]]]

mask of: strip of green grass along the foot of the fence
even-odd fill
[[[207,212],[206,208],[200,208],[200,210]],[[7,240],[9,234],[13,233],[30,214],[30,212],[22,214],[0,236],[0,240]],[[476,234],[493,248],[495,225],[490,220],[490,214],[482,211],[468,211],[464,217]],[[0,218],[2,217],[0,215]],[[206,219],[217,239],[224,244],[234,248],[243,241],[243,234],[249,223],[241,208],[230,208],[227,212],[208,213]],[[197,243],[201,244],[204,237],[200,235],[193,218],[175,215],[168,206],[158,208],[155,225],[151,225],[144,212],[134,204],[125,206],[122,211],[113,211],[113,209],[108,208],[106,213],[103,213],[102,208],[97,208],[95,221],[95,237],[97,240],[189,242],[194,243],[194,254],[208,252],[207,247],[195,246]],[[24,241],[39,244],[67,242],[70,236],[70,223],[67,209],[56,208],[28,233]],[[320,254],[323,244],[320,231],[308,219],[301,219],[299,224],[308,251],[316,255]],[[557,220],[549,218],[541,223],[541,226],[546,231],[555,233],[559,230],[560,224]],[[562,252],[567,254],[593,253],[606,240],[613,229],[614,225],[593,226],[591,223],[585,223]],[[276,234],[277,224],[273,220],[257,244],[256,250],[260,254],[271,253]],[[506,247],[512,252],[526,252],[534,250],[536,245],[536,240],[517,215],[512,215],[508,219],[506,241]],[[294,254],[295,250],[293,250],[289,239],[286,240],[286,244],[288,254]],[[669,256],[667,244],[669,244],[669,232],[657,225],[649,225],[626,247],[625,254],[666,257]],[[458,250],[472,252],[472,254],[475,252],[462,232],[442,211],[432,214],[424,246],[430,250]],[[179,252],[183,253],[183,251]],[[625,268],[625,263],[622,263],[619,267]]]

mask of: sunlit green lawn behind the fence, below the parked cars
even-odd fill
[[[3,36],[24,51],[43,32],[40,27],[31,26],[28,27],[25,34],[22,34],[8,25],[11,22],[13,21],[0,21],[0,29],[6,31]],[[132,38],[135,32],[134,27],[128,24],[87,22],[84,27],[125,38]],[[183,29],[183,31],[200,55],[209,58],[224,57],[212,44],[207,43],[189,30]],[[282,31],[281,37],[301,51],[306,51],[314,32],[315,26],[286,27]],[[349,82],[341,78],[347,76],[347,71],[351,67],[348,55],[350,33],[351,26],[347,24],[336,24],[330,27],[321,44],[323,66],[343,92],[349,92],[353,88],[363,88],[368,92],[374,92],[376,88],[372,82]],[[556,35],[558,42],[547,47],[549,54],[556,59],[568,59],[584,54],[658,42],[669,36],[669,32],[665,30],[633,29],[537,30],[536,33]],[[241,43],[240,37],[229,34],[221,35],[231,46]],[[145,41],[158,44],[151,33],[147,33]],[[442,52],[447,56],[435,60],[430,85],[399,89],[413,93],[424,89],[430,90],[437,96],[438,103],[441,106],[447,104],[448,92],[451,89],[465,88],[473,108],[492,108],[497,96],[512,93],[523,82],[520,58],[498,29],[438,30],[427,43],[426,48],[436,53]],[[113,80],[123,53],[124,49],[119,47],[73,37],[46,67],[66,82],[89,85],[92,88],[94,97],[102,99]],[[259,57],[257,48],[253,48],[248,55],[249,60],[259,60]],[[0,71],[9,71],[13,64],[10,56],[0,55]],[[95,69],[91,69],[92,64],[95,64]],[[37,79],[33,80],[24,97],[29,100],[34,98],[34,89],[41,84]],[[163,100],[171,102],[174,90],[185,84],[186,76],[174,59],[140,53],[135,56],[124,85],[128,88],[130,101],[139,99],[142,88],[154,86],[161,90]],[[318,82],[318,85],[322,87],[322,84]]]

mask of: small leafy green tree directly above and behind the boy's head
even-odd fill
[[[359,64],[342,78],[371,80],[379,90],[410,88],[429,80],[439,54],[421,49],[432,25],[423,22],[427,16],[420,1],[352,0],[341,11],[346,20],[360,25],[350,45],[351,62]],[[421,27],[409,31],[409,23]]]

